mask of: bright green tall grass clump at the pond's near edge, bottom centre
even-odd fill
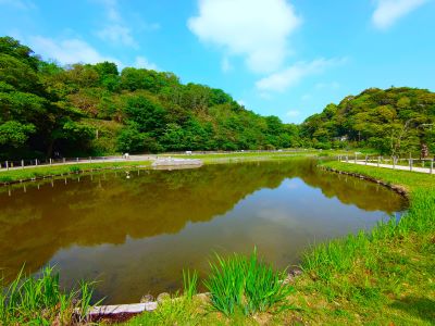
[[[211,273],[204,281],[213,306],[225,315],[241,311],[245,315],[271,308],[285,308],[293,288],[285,285],[285,271],[275,272],[259,260],[254,249],[249,258],[234,254],[223,259],[216,254],[210,263]]]

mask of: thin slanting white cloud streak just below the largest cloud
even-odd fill
[[[264,77],[256,83],[261,91],[285,91],[298,84],[303,77],[322,73],[325,68],[344,62],[345,59],[318,59],[311,62],[300,61],[285,70]]]

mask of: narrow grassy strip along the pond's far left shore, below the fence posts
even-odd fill
[[[35,166],[29,168],[16,168],[0,172],[0,184],[15,183],[20,180],[30,180],[34,178],[42,178],[48,176],[59,176],[71,173],[82,173],[103,168],[121,168],[135,166],[149,166],[150,161],[128,161],[128,162],[96,162],[65,164],[53,166]]]

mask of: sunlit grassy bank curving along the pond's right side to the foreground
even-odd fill
[[[371,233],[308,250],[287,309],[228,315],[207,300],[169,300],[129,325],[434,325],[435,177],[339,162],[323,166],[402,186],[408,212]]]

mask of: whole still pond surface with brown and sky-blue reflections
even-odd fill
[[[207,275],[213,252],[277,267],[310,244],[390,218],[388,189],[320,171],[310,160],[119,171],[0,188],[0,268],[55,265],[61,283],[100,280],[96,298],[138,302],[181,289],[183,268]]]

